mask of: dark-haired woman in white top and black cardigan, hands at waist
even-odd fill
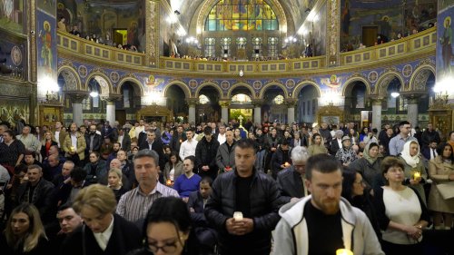
[[[374,191],[374,205],[382,231],[381,248],[386,254],[422,254],[422,230],[429,224],[429,211],[419,192],[402,184],[405,164],[395,157],[381,162],[385,185]]]

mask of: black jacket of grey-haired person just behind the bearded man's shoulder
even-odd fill
[[[287,203],[291,198],[302,198],[304,196],[301,173],[296,172],[293,166],[279,172],[276,181],[278,182],[282,201]]]

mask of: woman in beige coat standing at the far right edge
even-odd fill
[[[429,176],[433,181],[429,192],[429,210],[434,211],[433,224],[435,229],[449,230],[452,228],[454,198],[443,199],[437,185],[454,181],[454,153],[448,142],[440,143],[437,153],[439,155],[429,162]],[[444,223],[444,226],[442,223]]]

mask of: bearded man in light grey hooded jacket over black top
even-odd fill
[[[273,254],[384,254],[364,212],[341,198],[341,164],[327,154],[306,163],[305,184],[311,195],[280,210]]]

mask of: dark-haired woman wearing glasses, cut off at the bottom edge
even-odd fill
[[[143,228],[143,249],[134,250],[129,255],[199,254],[192,249],[191,216],[181,199],[163,197],[154,201]]]

